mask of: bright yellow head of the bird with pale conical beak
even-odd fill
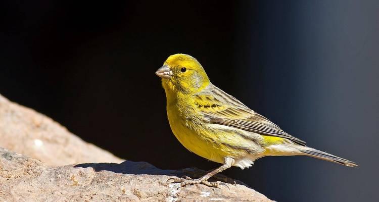
[[[196,93],[210,84],[201,64],[185,54],[168,57],[156,74],[162,78],[166,91]]]

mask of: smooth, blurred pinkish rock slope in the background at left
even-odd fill
[[[51,118],[0,95],[0,147],[48,165],[124,160],[87,143]]]

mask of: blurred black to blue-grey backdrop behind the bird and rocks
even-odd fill
[[[377,1],[0,3],[0,93],[162,169],[219,166],[172,135],[154,74],[175,53],[309,146],[224,173],[278,201],[377,201]],[[376,192],[375,192],[376,191]]]

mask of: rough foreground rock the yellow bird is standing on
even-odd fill
[[[0,148],[0,201],[271,201],[241,184],[166,183],[183,174],[131,161],[48,166]]]

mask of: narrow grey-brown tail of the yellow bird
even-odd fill
[[[313,158],[317,158],[317,159],[321,159],[321,160],[325,160],[325,161],[330,161],[330,162],[335,162],[335,163],[342,164],[342,165],[349,166],[349,167],[357,167],[358,166],[356,163],[354,163],[352,161],[342,159],[340,157],[337,157],[337,156],[334,156],[331,154],[327,154],[326,152],[323,152],[323,151],[320,151],[320,150],[317,150],[317,149],[314,149],[311,147],[302,146],[301,148],[299,148],[299,150],[304,155],[309,156],[309,157],[313,157]]]

